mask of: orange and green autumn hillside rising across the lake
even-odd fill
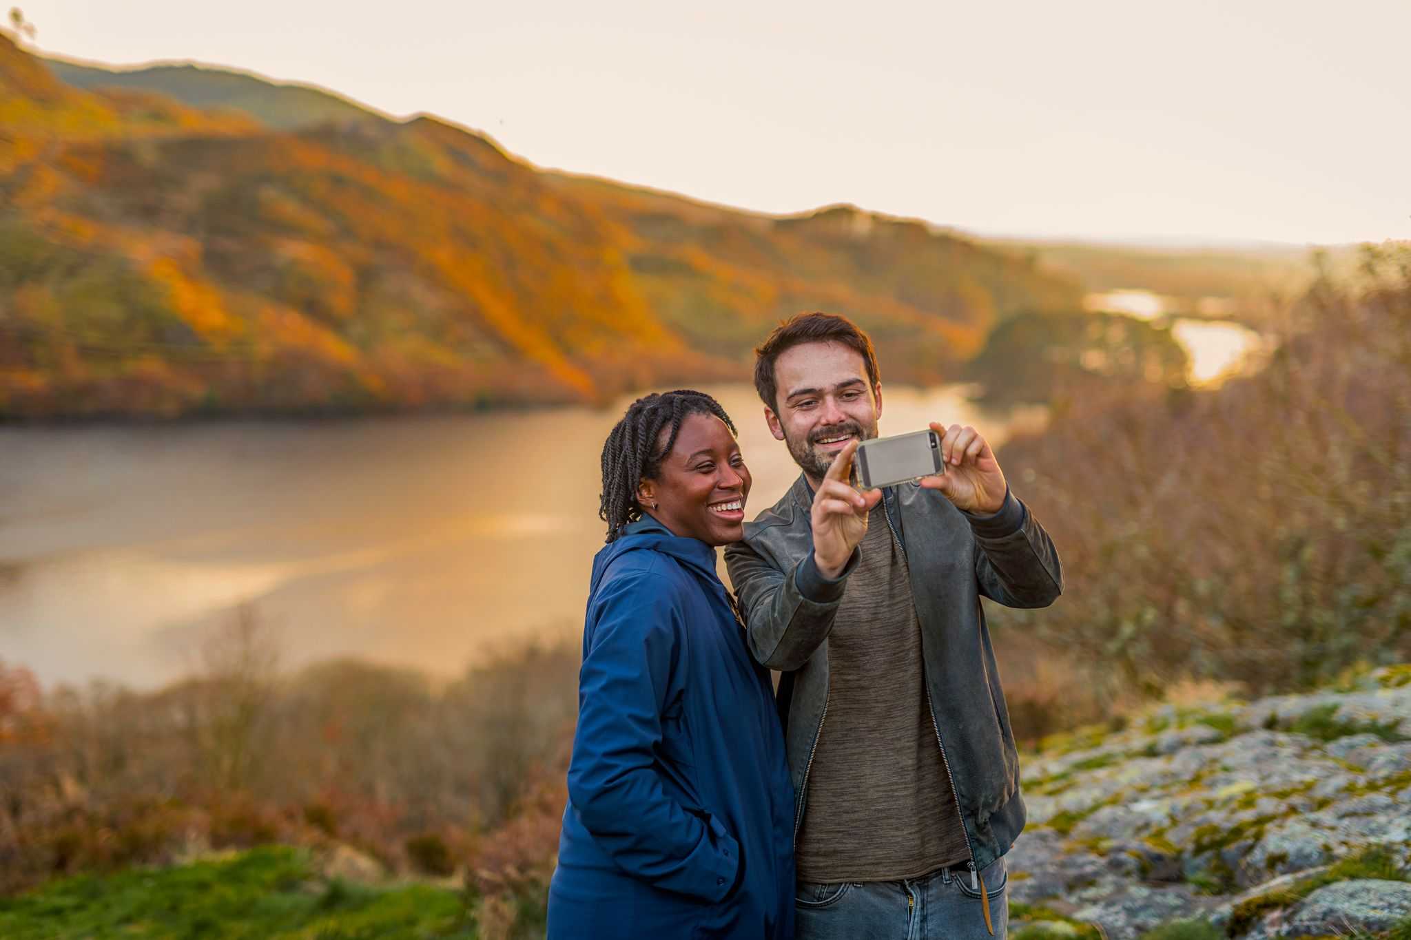
[[[260,79],[220,97],[202,69],[123,75],[85,92],[0,38],[4,114],[27,116],[0,142],[0,417],[604,400],[745,375],[816,307],[927,382],[999,320],[1081,299],[916,221],[543,173],[430,117],[253,125]],[[227,110],[154,90],[188,79]],[[113,107],[135,87],[165,123]]]

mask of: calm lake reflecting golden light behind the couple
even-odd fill
[[[797,475],[748,385],[746,514]],[[975,424],[964,389],[889,388],[882,433]],[[0,430],[0,660],[151,688],[251,603],[285,668],[364,657],[459,672],[577,636],[602,544],[598,458],[626,399],[481,416]],[[1038,420],[1034,414],[1023,421]]]

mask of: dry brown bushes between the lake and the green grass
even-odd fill
[[[0,892],[267,841],[337,839],[406,870],[408,840],[435,839],[444,870],[557,767],[577,709],[569,644],[508,651],[442,686],[351,661],[281,675],[277,653],[241,609],[196,675],[157,692],[96,682],[41,698],[0,669]]]

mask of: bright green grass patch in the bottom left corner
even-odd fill
[[[0,899],[0,937],[164,940],[471,939],[466,901],[428,885],[323,881],[296,848],[268,846],[165,870],[82,875]]]

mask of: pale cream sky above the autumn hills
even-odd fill
[[[309,82],[758,211],[1411,238],[1411,0],[11,3],[42,51]]]

